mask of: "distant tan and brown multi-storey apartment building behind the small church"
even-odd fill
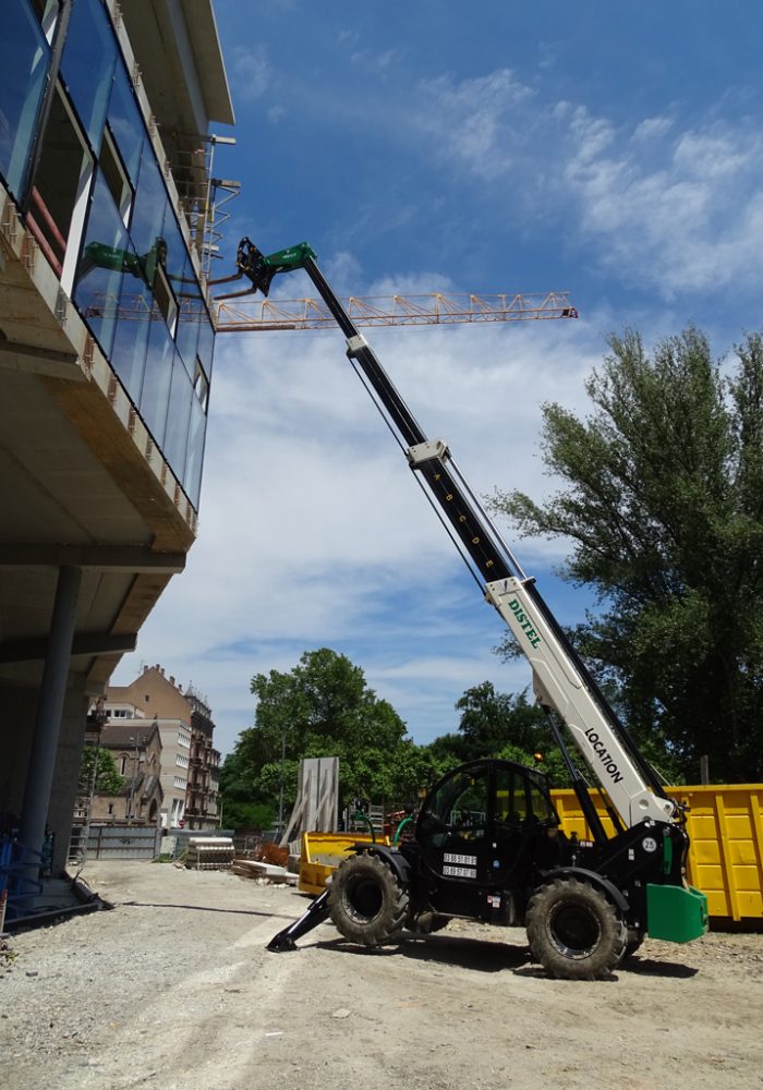
[[[217,827],[220,754],[213,746],[211,712],[198,692],[192,686],[183,691],[161,666],[146,666],[129,686],[109,686],[104,707],[107,738],[117,724],[137,740],[154,728],[159,732],[161,825]]]

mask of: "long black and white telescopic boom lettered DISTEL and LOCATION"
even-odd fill
[[[365,338],[302,242],[264,255],[249,240],[239,245],[238,276],[268,294],[274,277],[304,269],[347,339],[347,355],[402,447],[433,506],[523,651],[538,703],[564,722],[589,768],[607,791],[621,823],[678,821],[678,807],[602,693],[584,663],[502,541],[443,439],[428,439]],[[251,291],[251,289],[250,289]]]

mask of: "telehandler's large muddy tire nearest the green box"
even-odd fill
[[[578,879],[555,879],[530,898],[533,958],[559,980],[604,980],[626,949],[628,931],[604,894]]]

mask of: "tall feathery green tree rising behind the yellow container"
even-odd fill
[[[613,336],[584,420],[543,407],[564,482],[545,505],[496,493],[521,534],[572,542],[564,574],[597,596],[573,639],[668,775],[760,778],[763,764],[763,341],[725,377],[690,328],[649,355]],[[505,651],[508,646],[505,644]]]

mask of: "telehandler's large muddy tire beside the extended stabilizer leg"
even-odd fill
[[[408,891],[378,856],[350,856],[328,888],[331,923],[346,938],[380,946],[400,937],[408,916]]]

